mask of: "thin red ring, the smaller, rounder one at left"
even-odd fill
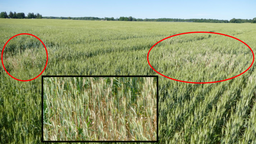
[[[39,41],[41,41],[38,37],[36,37],[36,36],[34,36],[34,35],[32,35],[32,34],[22,33],[22,34],[17,34],[17,35],[15,35],[15,36],[11,37],[11,38],[5,43],[5,46],[6,46],[6,44],[7,44],[12,38],[14,38],[14,37],[16,37],[16,36],[18,36],[18,35],[31,35],[31,36],[37,38]],[[45,49],[46,49],[46,45],[44,44],[44,42],[41,41],[41,43],[45,46]],[[3,50],[2,50],[2,55],[1,55],[2,64],[3,64],[4,68],[5,68],[5,65],[4,65],[4,62],[3,62],[3,53],[4,53],[5,46],[4,46]],[[46,55],[47,55],[47,59],[46,59],[46,66],[47,66],[47,62],[48,62],[48,52],[47,52],[47,49],[46,49]],[[33,78],[33,79],[30,79],[30,80],[19,80],[19,79],[16,79],[16,78],[12,77],[12,76],[8,73],[8,71],[7,71],[6,69],[5,69],[5,71],[6,71],[6,73],[7,73],[10,77],[12,77],[13,79],[18,80],[18,81],[26,82],[26,81],[32,81],[32,80],[38,78],[38,77],[45,71],[46,66],[45,66],[44,70],[42,70],[42,72],[41,72],[37,77],[35,77],[35,78]]]

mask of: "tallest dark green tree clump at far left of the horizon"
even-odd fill
[[[13,13],[12,11],[10,11],[9,15],[6,12],[1,12],[0,18],[19,18],[19,19],[28,18],[28,19],[31,19],[31,18],[42,18],[42,15],[39,13],[37,13],[37,14],[28,13],[28,15],[25,16],[25,13],[23,13],[23,12],[21,12],[21,13],[14,12]]]

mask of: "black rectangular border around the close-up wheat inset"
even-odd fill
[[[140,141],[111,141],[111,140],[106,140],[106,141],[45,141],[44,140],[44,135],[43,135],[43,130],[44,130],[44,117],[43,117],[43,95],[44,95],[44,78],[47,77],[156,77],[157,78],[157,140],[155,141],[144,141],[144,140],[140,140]],[[158,86],[159,86],[159,82],[158,82],[158,76],[41,76],[41,142],[159,142],[158,139],[158,116],[159,116],[159,112],[158,112],[158,103],[159,103],[159,93],[158,93]]]

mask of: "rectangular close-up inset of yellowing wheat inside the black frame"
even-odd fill
[[[157,140],[157,79],[44,78],[44,140]]]

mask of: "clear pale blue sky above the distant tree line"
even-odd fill
[[[256,17],[255,0],[216,1],[0,1],[0,11],[40,13],[42,16],[135,18],[212,18]]]

